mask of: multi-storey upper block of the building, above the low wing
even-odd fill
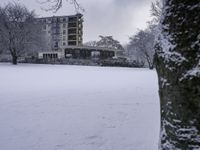
[[[43,26],[48,46],[53,51],[83,43],[83,15],[52,16],[38,18]]]

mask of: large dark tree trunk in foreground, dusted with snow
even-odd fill
[[[200,149],[200,2],[163,0],[155,45],[161,150]]]

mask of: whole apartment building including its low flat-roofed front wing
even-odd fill
[[[83,46],[83,15],[38,18],[49,45],[48,51],[38,53],[39,59],[101,59],[117,56],[119,50]]]

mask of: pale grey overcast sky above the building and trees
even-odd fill
[[[41,9],[42,0],[1,0],[1,4],[19,1],[30,10],[35,10],[40,17],[71,15],[75,10],[64,1],[63,7],[57,12],[45,12]],[[84,42],[97,40],[99,35],[112,35],[122,44],[137,29],[144,29],[150,20],[150,6],[153,0],[78,0],[84,7]],[[48,5],[42,5],[47,7]]]

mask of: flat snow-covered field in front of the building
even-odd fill
[[[156,150],[148,69],[0,64],[0,150]]]

